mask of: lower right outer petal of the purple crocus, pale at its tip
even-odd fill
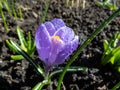
[[[71,55],[73,51],[77,49],[78,43],[79,43],[78,36],[75,36],[74,40],[66,44],[65,47],[63,48],[63,51],[61,51],[58,54],[57,59],[54,62],[54,64],[58,65],[58,64],[63,63],[65,59],[68,58],[68,56]]]

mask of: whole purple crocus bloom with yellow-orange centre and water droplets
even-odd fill
[[[78,36],[62,19],[41,24],[35,35],[36,48],[46,67],[61,64],[78,47]]]

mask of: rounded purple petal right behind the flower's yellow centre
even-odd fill
[[[58,31],[55,32],[56,36],[60,36],[60,38],[65,42],[70,42],[71,40],[74,39],[74,32],[71,28],[69,27],[62,27],[62,28],[59,28]]]

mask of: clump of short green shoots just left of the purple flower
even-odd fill
[[[20,47],[22,48],[22,50],[24,50],[28,55],[33,56],[35,52],[35,42],[34,40],[32,40],[30,32],[28,32],[27,40],[25,40],[22,30],[19,27],[17,27],[17,34],[20,40]],[[8,40],[6,40],[6,43],[11,50],[17,53],[16,49],[11,45],[11,43]],[[24,59],[22,55],[11,55],[11,58],[13,60]]]

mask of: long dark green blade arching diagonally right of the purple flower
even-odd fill
[[[120,8],[117,9],[108,19],[106,19],[88,38],[87,40],[79,46],[77,51],[73,54],[71,59],[69,60],[68,64],[65,66],[63,72],[60,75],[57,90],[60,90],[61,83],[63,81],[63,78],[66,74],[67,69],[69,66],[75,61],[75,59],[78,57],[78,55],[83,51],[83,49],[94,39],[96,35],[98,35],[104,28],[107,26],[118,14],[120,13]]]

